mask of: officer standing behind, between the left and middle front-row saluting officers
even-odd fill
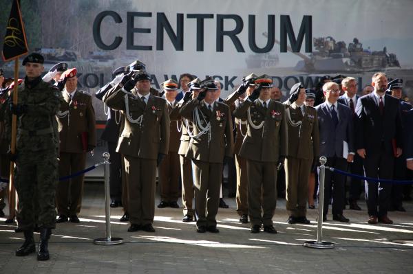
[[[179,175],[180,163],[178,148],[180,144],[180,132],[178,126],[180,122],[179,111],[176,108],[176,95],[178,94],[178,83],[169,79],[162,83],[165,91],[165,99],[167,100],[169,118],[171,125],[169,127],[169,152],[165,160],[160,163],[158,168],[159,186],[160,186],[160,203],[159,208],[173,207],[179,208],[178,198],[179,190]]]

